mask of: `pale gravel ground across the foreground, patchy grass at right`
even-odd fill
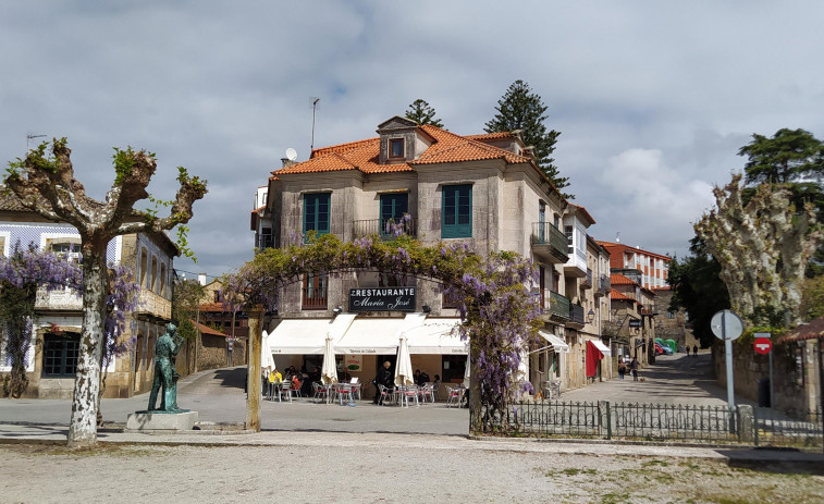
[[[356,434],[306,434],[269,446],[108,444],[88,452],[7,444],[0,445],[0,501],[824,502],[821,476],[735,469],[689,457],[688,450],[616,456],[550,453],[542,444]]]

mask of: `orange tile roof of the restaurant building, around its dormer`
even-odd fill
[[[315,149],[309,160],[275,170],[278,175],[358,170],[362,173],[393,173],[414,170],[415,164],[454,163],[487,159],[504,159],[509,163],[530,163],[531,159],[487,145],[471,137],[456,135],[432,125],[418,128],[433,139],[432,145],[416,160],[404,163],[379,164],[380,138],[339,144]],[[508,134],[504,134],[508,135]],[[533,164],[534,165],[534,164]],[[536,170],[538,167],[536,167]]]

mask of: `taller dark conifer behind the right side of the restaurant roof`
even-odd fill
[[[552,153],[555,151],[559,132],[546,131],[546,106],[541,97],[532,93],[532,89],[524,81],[515,81],[504,96],[497,100],[495,107],[497,113],[487,123],[487,133],[520,131],[521,139],[527,146],[534,147],[536,159],[539,168],[552,182],[558,192],[569,186],[569,179],[561,176],[558,169],[553,162]],[[562,193],[565,198],[574,196]]]

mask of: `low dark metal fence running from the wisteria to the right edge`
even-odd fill
[[[534,401],[506,413],[481,410],[484,429],[513,434],[822,446],[821,411],[796,415],[751,406]]]

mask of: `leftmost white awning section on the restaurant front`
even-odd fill
[[[322,355],[327,334],[339,340],[354,319],[354,314],[341,314],[334,319],[283,320],[269,335],[269,348],[272,354]]]

